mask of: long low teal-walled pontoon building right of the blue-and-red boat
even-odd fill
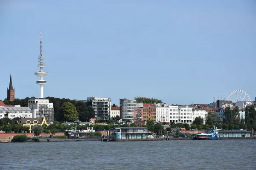
[[[227,137],[232,137],[232,138],[236,138],[236,137],[251,137],[251,132],[247,131],[247,130],[242,130],[242,129],[238,129],[238,130],[222,130],[219,131],[219,135],[222,138],[227,138]]]

